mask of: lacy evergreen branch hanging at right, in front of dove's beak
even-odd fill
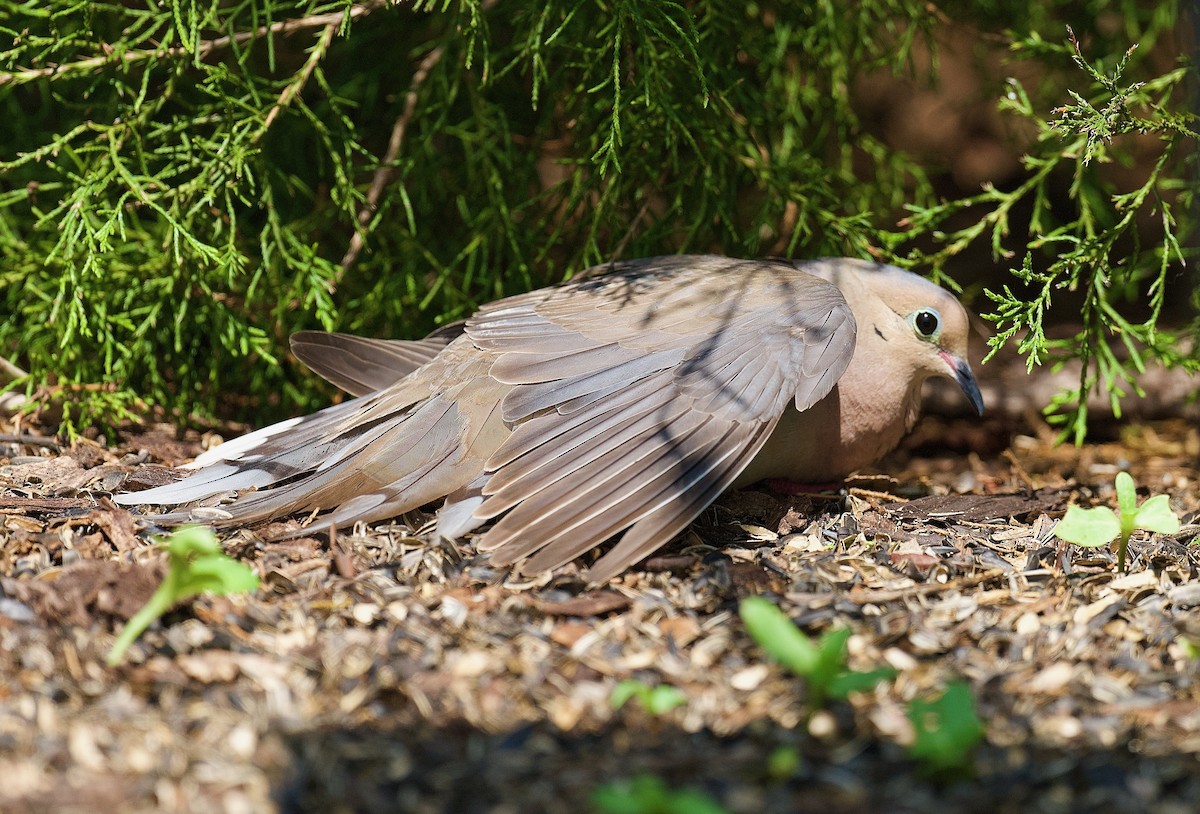
[[[1004,285],[998,291],[984,291],[995,304],[994,312],[984,316],[996,325],[985,361],[1009,342],[1015,342],[1031,371],[1046,359],[1078,360],[1078,387],[1056,395],[1046,412],[1050,423],[1062,425],[1061,439],[1080,443],[1087,429],[1087,397],[1094,390],[1108,393],[1110,408],[1120,417],[1121,399],[1129,393],[1142,394],[1138,377],[1145,372],[1147,359],[1164,365],[1200,365],[1194,353],[1180,348],[1171,337],[1160,336],[1157,327],[1169,262],[1172,257],[1181,264],[1184,261],[1180,225],[1171,215],[1165,192],[1171,184],[1170,173],[1182,169],[1180,148],[1198,137],[1190,126],[1195,116],[1172,113],[1166,106],[1170,92],[1184,82],[1188,71],[1176,70],[1147,82],[1126,84],[1122,77],[1130,67],[1135,47],[1126,49],[1111,73],[1105,74],[1084,59],[1070,29],[1068,42],[1073,61],[1092,83],[1092,98],[1068,90],[1072,102],[1051,110],[1055,118],[1046,121],[1024,89],[1010,79],[1007,101],[1002,102],[1003,109],[1038,126],[1034,150],[1024,160],[1027,178],[1009,191],[986,187],[972,198],[914,208],[913,215],[901,222],[906,232],[893,238],[911,240],[931,234],[943,247],[931,255],[914,250],[910,259],[919,257],[940,263],[974,243],[990,227],[994,256],[1010,257],[1013,251],[1004,245],[1009,217],[1019,211],[1016,204],[1022,204],[1021,208],[1032,204],[1019,231],[1027,235],[1025,258],[1021,268],[1010,269],[1025,289],[1014,292]],[[1135,115],[1136,108],[1148,109],[1150,115]],[[1118,192],[1097,174],[1093,164],[1120,160],[1122,146],[1116,139],[1134,132],[1157,136],[1160,151],[1138,186]],[[1068,196],[1074,211],[1055,225],[1061,215],[1049,205],[1049,182],[1068,172]],[[978,205],[988,210],[977,214],[971,225],[949,234],[937,231],[950,216]],[[1158,247],[1146,251],[1138,222],[1156,208],[1162,210],[1162,235]],[[1034,270],[1036,257],[1040,270]],[[1043,319],[1063,289],[1082,294],[1082,328],[1069,341],[1050,341]],[[1130,322],[1116,305],[1118,298],[1133,294],[1150,305],[1148,315],[1138,323]],[[1109,343],[1112,335],[1124,346],[1124,355],[1114,353]]]

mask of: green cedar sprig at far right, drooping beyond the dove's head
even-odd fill
[[[988,358],[1013,342],[1031,372],[1045,361],[1080,360],[1078,387],[1057,394],[1046,412],[1062,427],[1061,439],[1081,443],[1088,394],[1108,394],[1120,417],[1121,399],[1144,395],[1138,377],[1148,360],[1200,371],[1200,319],[1174,330],[1159,324],[1169,292],[1190,298],[1193,307],[1200,303],[1200,279],[1188,270],[1196,252],[1184,247],[1196,214],[1200,134],[1188,109],[1196,70],[1181,59],[1165,73],[1134,79],[1138,43],[1112,60],[1093,61],[1070,28],[1061,44],[1033,34],[1014,37],[1012,49],[1025,59],[1069,58],[1079,68],[1069,82],[1082,91],[1067,88],[1063,103],[1043,120],[1031,92],[1008,79],[1001,109],[1037,125],[1022,160],[1025,178],[1012,188],[986,185],[976,196],[912,207],[889,245],[932,235],[935,252],[914,250],[907,259],[935,268],[978,241],[991,246],[1010,281],[984,291],[991,301],[985,316],[996,330]],[[1151,169],[1139,185],[1120,188],[1105,164],[1130,166],[1138,151],[1156,156]],[[1063,187],[1066,200],[1058,194]],[[962,214],[970,215],[966,226],[943,231]],[[1154,227],[1147,229],[1147,222]],[[1052,306],[1067,293],[1081,309],[1082,325],[1073,336],[1048,337]]]

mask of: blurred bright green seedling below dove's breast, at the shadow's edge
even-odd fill
[[[767,654],[804,678],[809,687],[809,710],[820,710],[827,698],[846,698],[866,690],[895,676],[895,670],[881,668],[854,672],[846,668],[846,642],[850,629],[824,633],[814,644],[787,614],[762,597],[742,600],[742,622],[746,632]]]

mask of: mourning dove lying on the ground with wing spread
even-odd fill
[[[983,412],[967,312],[907,271],[707,256],[599,270],[416,342],[300,334],[298,355],[355,399],[116,501],[235,492],[217,525],[322,510],[316,527],[342,527],[445,497],[442,535],[496,520],[478,547],[526,573],[620,535],[588,571],[604,582],[730,486],[828,483],[874,462],[912,427],[931,376]]]

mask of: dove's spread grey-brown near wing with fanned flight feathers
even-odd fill
[[[836,288],[787,264],[652,258],[487,306],[467,335],[512,385],[515,429],[475,511],[503,516],[480,547],[535,571],[624,532],[589,573],[600,582],[691,522],[790,403],[829,393],[854,321]]]

